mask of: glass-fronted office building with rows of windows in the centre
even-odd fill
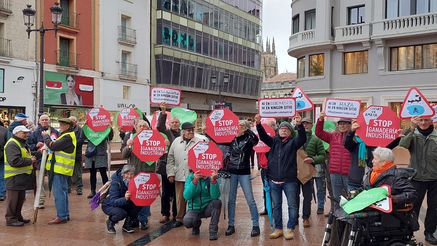
[[[198,125],[219,101],[241,118],[258,111],[261,70],[261,0],[152,0],[152,86],[182,90],[181,107]],[[152,111],[159,105],[151,105]]]

